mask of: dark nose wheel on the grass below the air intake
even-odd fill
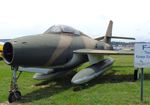
[[[11,92],[8,96],[9,103],[19,101],[20,99],[21,99],[21,92],[20,91]]]

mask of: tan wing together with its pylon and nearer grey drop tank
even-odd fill
[[[114,51],[114,50],[98,50],[98,49],[79,49],[74,51],[75,54],[86,54],[91,66],[79,71],[71,80],[74,84],[85,83],[108,70],[114,60],[112,58],[104,58],[104,55],[133,55],[132,51]]]

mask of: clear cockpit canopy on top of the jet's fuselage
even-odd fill
[[[82,33],[79,30],[76,30],[70,26],[66,25],[53,25],[50,27],[47,31],[44,32],[44,34],[49,34],[49,33],[70,33],[74,35],[81,35]]]

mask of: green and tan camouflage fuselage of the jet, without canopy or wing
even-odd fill
[[[96,47],[97,41],[70,33],[40,34],[12,39],[4,45],[4,60],[10,65],[26,67],[65,67],[87,61],[87,56],[74,57],[73,51]],[[76,61],[74,61],[76,60]],[[73,64],[74,63],[74,64]]]

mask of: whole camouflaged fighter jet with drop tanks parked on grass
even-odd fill
[[[3,59],[12,68],[12,80],[8,101],[21,99],[16,73],[36,72],[34,79],[62,76],[73,68],[90,62],[90,66],[73,76],[73,84],[84,84],[102,74],[114,62],[104,55],[132,55],[130,52],[112,51],[111,38],[134,39],[112,36],[110,21],[106,35],[92,39],[81,31],[65,25],[54,25],[43,34],[9,40],[3,46]]]

